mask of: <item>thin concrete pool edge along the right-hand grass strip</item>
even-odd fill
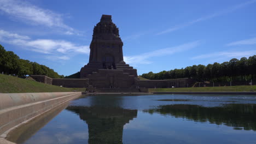
[[[256,95],[256,92],[151,92],[153,94],[244,94]]]

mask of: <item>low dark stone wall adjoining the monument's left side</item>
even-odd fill
[[[86,88],[89,86],[89,79],[53,79],[53,85]]]

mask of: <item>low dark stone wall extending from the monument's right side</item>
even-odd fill
[[[195,81],[193,79],[174,80],[136,80],[138,87],[146,88],[171,88],[171,87],[191,87]]]

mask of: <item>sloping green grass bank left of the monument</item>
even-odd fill
[[[0,93],[36,93],[36,92],[83,92],[85,88],[65,88],[48,85],[32,80],[0,74]]]

